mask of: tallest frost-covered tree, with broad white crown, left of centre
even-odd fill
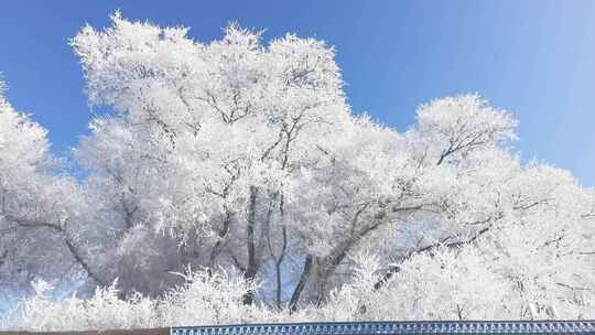
[[[279,280],[295,239],[284,218],[289,180],[350,122],[333,50],[294,35],[264,46],[236,25],[203,45],[185,29],[112,21],[73,40],[90,101],[115,109],[77,154],[102,198],[99,215],[120,220],[119,252],[148,260],[139,273],[173,267],[131,277],[133,289],[188,262],[251,280],[272,262]],[[154,233],[173,238],[164,242],[173,250],[182,244],[174,259],[139,252]]]

